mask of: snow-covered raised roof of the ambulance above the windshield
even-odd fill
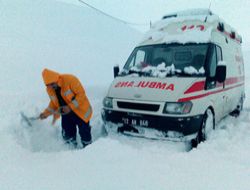
[[[209,9],[190,9],[163,16],[145,34],[141,45],[161,43],[207,43],[212,32],[218,31],[232,40],[242,42],[234,28]]]

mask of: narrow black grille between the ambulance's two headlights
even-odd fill
[[[158,111],[160,105],[156,104],[143,104],[143,103],[131,103],[131,102],[117,102],[119,108],[143,110],[143,111]]]

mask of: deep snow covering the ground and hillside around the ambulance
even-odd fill
[[[219,123],[207,142],[186,151],[181,143],[104,136],[102,100],[113,65],[125,63],[141,38],[126,25],[80,6],[57,1],[1,1],[0,189],[185,189],[246,190],[250,186],[250,43],[244,45],[245,108]],[[244,40],[244,39],[243,39]],[[49,98],[44,67],[73,73],[94,108],[94,142],[72,150],[60,122],[21,122]]]

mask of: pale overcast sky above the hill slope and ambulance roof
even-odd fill
[[[61,0],[79,4],[78,0]],[[232,25],[250,42],[250,0],[83,0],[114,17],[133,23],[150,23],[179,10],[208,8]],[[82,4],[82,6],[86,7]],[[137,26],[146,31],[148,26]]]

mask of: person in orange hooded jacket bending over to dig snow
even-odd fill
[[[47,93],[50,97],[48,107],[40,114],[39,119],[53,115],[53,124],[61,116],[62,137],[68,144],[77,147],[77,128],[83,147],[91,143],[92,108],[85,90],[77,77],[70,74],[59,74],[44,69],[42,72]]]

